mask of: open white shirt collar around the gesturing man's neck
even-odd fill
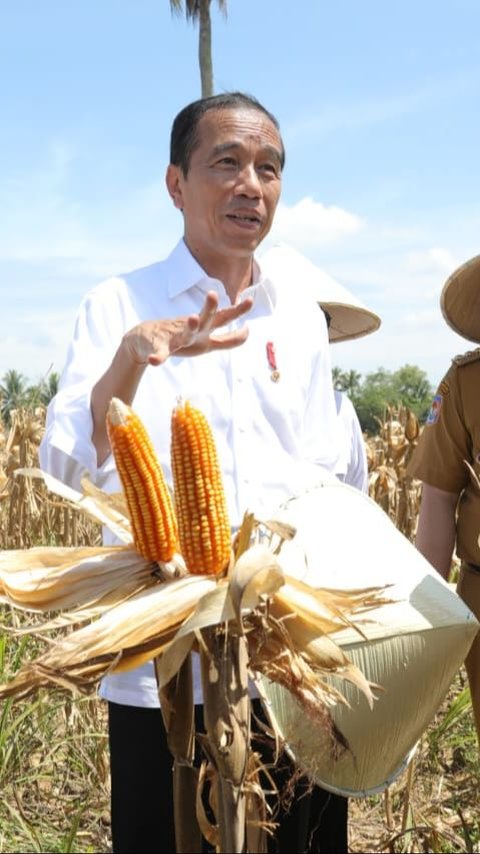
[[[172,265],[172,274],[168,281],[170,299],[174,299],[195,286],[203,285],[204,287],[207,286],[208,289],[209,283],[218,282],[218,279],[212,279],[206,274],[193,257],[183,238],[178,241],[170,253],[168,261]],[[253,261],[253,284],[244,291],[244,295],[253,296],[255,302],[257,300],[266,302],[270,308],[273,308],[277,301],[277,292],[273,281],[263,276],[260,264],[255,259]]]

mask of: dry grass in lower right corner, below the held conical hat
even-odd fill
[[[350,851],[480,851],[479,783],[462,669],[411,767],[384,794],[350,802]]]

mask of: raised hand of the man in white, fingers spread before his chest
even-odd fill
[[[218,295],[209,291],[200,314],[139,323],[124,335],[122,347],[137,365],[161,365],[169,356],[198,356],[238,347],[247,339],[246,326],[218,334],[217,330],[242,317],[252,305],[251,297],[246,297],[237,305],[219,309]]]

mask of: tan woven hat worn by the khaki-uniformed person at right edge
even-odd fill
[[[440,296],[440,308],[455,332],[480,344],[480,255],[449,276]]]

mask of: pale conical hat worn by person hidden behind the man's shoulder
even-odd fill
[[[375,332],[381,320],[360,300],[305,255],[284,244],[276,244],[260,256],[262,273],[277,280],[307,288],[313,299],[330,315],[331,342],[348,341]]]

